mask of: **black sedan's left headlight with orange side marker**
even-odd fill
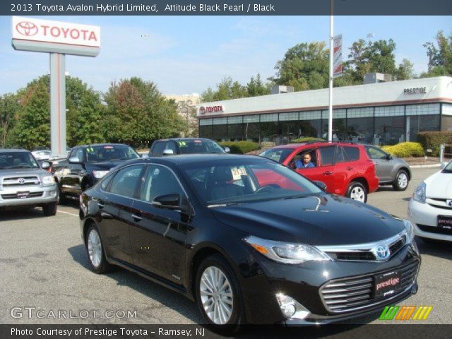
[[[251,247],[267,258],[280,263],[304,263],[305,261],[329,261],[331,258],[314,246],[274,242],[249,236],[244,239]]]

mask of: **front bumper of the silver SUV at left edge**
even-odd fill
[[[18,191],[29,192],[28,197],[16,197]],[[18,189],[3,189],[0,190],[0,208],[16,207],[16,206],[39,206],[45,203],[54,203],[58,201],[58,186],[57,184],[49,186],[24,186]]]

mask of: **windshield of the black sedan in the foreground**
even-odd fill
[[[201,162],[184,167],[184,173],[198,198],[210,207],[321,193],[292,169],[263,159]]]

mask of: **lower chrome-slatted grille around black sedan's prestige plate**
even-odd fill
[[[408,289],[414,282],[419,268],[419,261],[413,261],[405,266],[394,268],[400,271],[400,286],[396,290],[398,295]],[[390,272],[390,271],[388,271]],[[343,313],[372,307],[384,303],[395,295],[387,297],[374,297],[375,275],[385,273],[379,272],[371,275],[331,280],[320,289],[321,299],[326,310],[331,313]]]

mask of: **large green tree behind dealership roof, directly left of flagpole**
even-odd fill
[[[328,49],[325,42],[297,44],[275,65],[273,80],[278,85],[293,86],[295,90],[315,90],[328,87]]]

